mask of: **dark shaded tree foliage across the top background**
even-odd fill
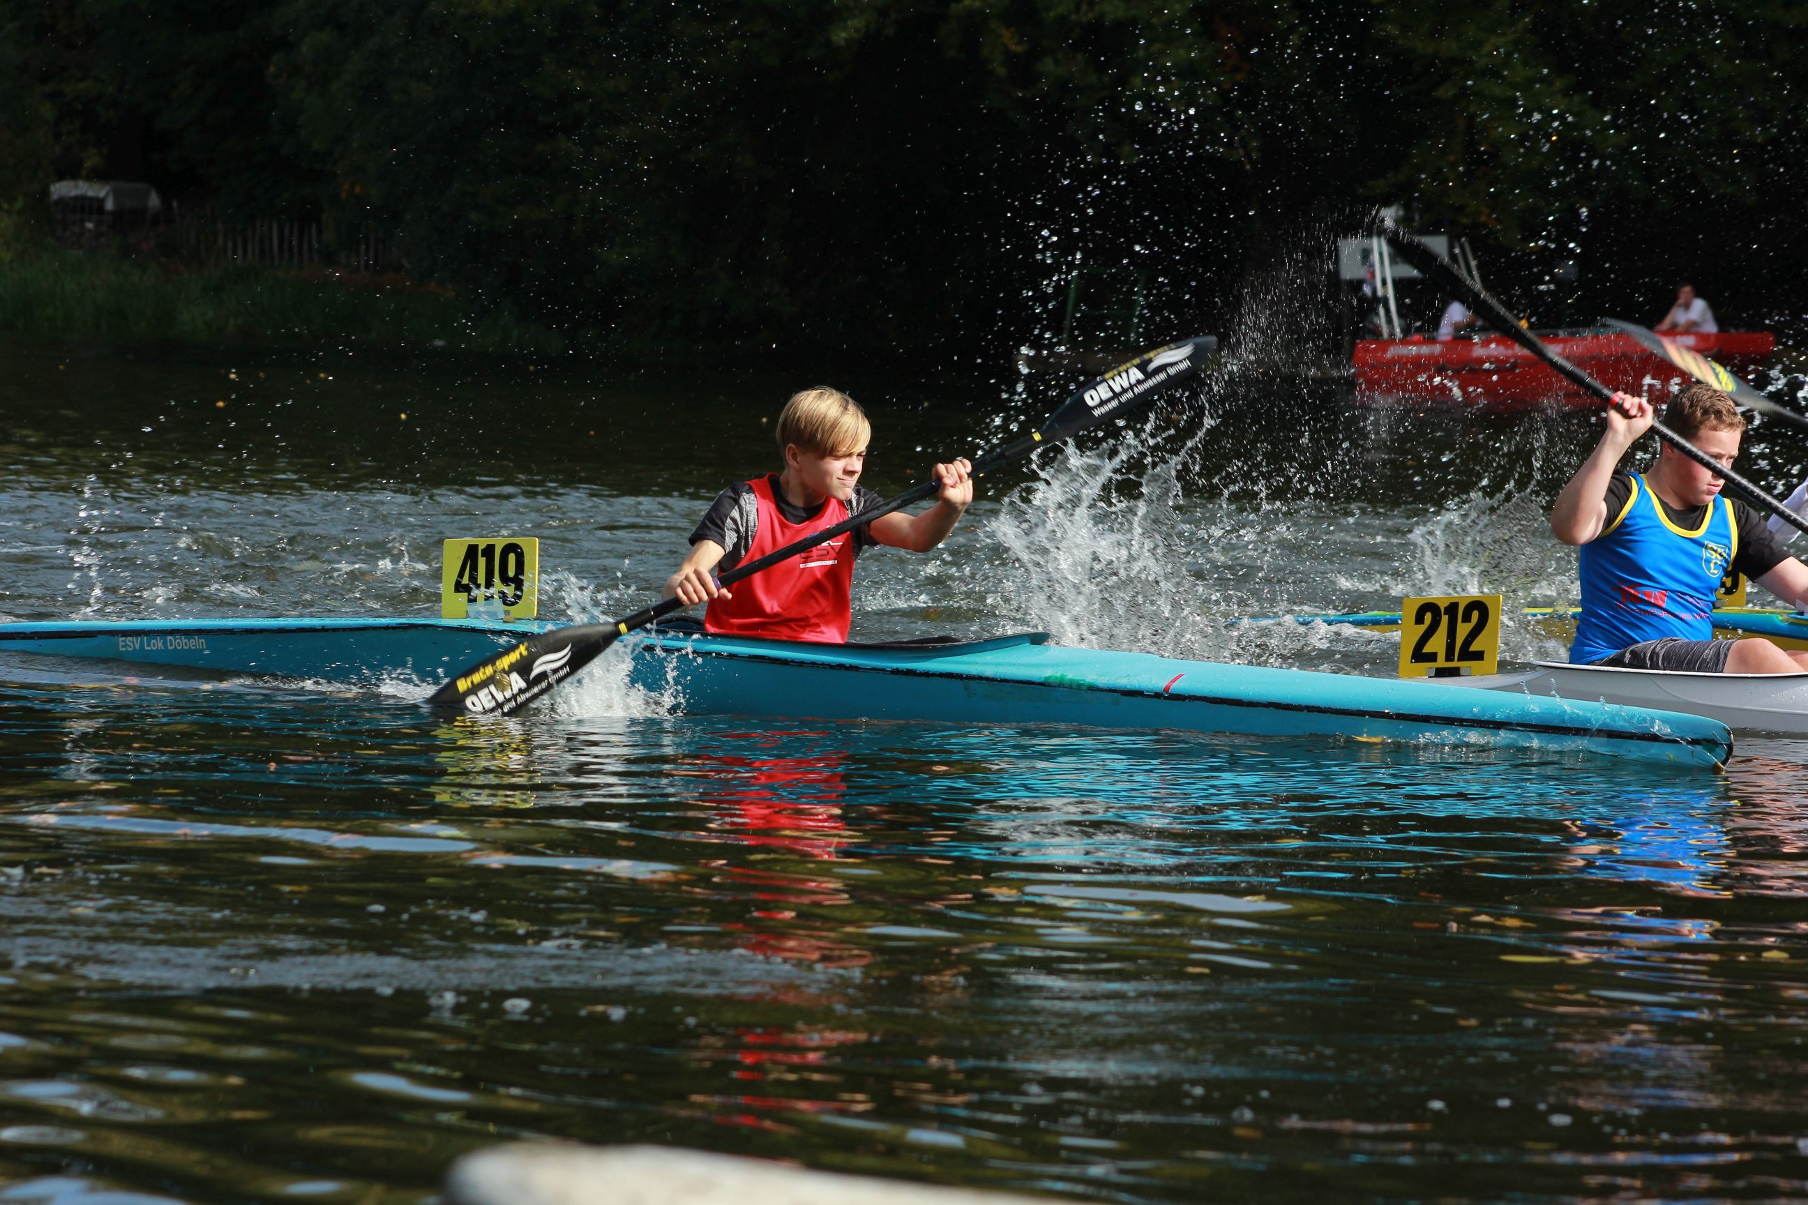
[[[956,354],[1076,257],[1229,329],[1398,202],[1535,314],[1577,258],[1577,316],[1788,332],[1804,51],[1792,0],[0,0],[0,253],[146,179],[604,343]]]

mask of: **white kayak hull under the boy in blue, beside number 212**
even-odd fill
[[[1618,703],[1718,719],[1734,732],[1808,737],[1808,674],[1687,674],[1625,670],[1566,661],[1533,661],[1519,674],[1446,677],[1446,687],[1479,687],[1571,703]]]

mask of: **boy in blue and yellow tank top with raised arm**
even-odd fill
[[[1582,618],[1569,659],[1716,674],[1808,670],[1808,652],[1759,636],[1714,640],[1714,591],[1728,565],[1795,607],[1808,603],[1808,565],[1783,551],[1759,511],[1721,497],[1725,477],[1669,444],[1660,444],[1651,472],[1616,472],[1654,417],[1643,397],[1615,394],[1607,432],[1551,508],[1551,533],[1582,549]],[[1689,385],[1665,419],[1728,468],[1739,455],[1745,419],[1716,388]]]

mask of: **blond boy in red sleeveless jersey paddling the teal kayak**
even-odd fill
[[[716,585],[718,569],[774,553],[832,528],[880,499],[859,484],[871,423],[859,403],[828,387],[794,394],[779,414],[781,473],[729,486],[691,533],[691,555],[665,582],[665,598],[709,603],[703,629],[844,643],[852,620],[853,560],[873,544],[928,553],[973,502],[973,464],[937,464],[940,493],[920,515],[891,511],[770,569]]]

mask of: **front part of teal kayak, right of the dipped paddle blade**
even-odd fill
[[[1694,717],[1560,699],[1493,706],[1479,701],[1510,696],[1067,649],[1040,634],[926,647],[660,634],[636,641],[633,658],[636,685],[674,692],[692,714],[1492,744],[1687,766],[1718,766],[1732,755],[1730,733]]]

